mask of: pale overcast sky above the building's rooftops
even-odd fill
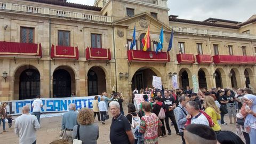
[[[67,0],[67,2],[93,5],[94,0]],[[168,0],[169,14],[180,19],[205,20],[207,18],[246,21],[256,14],[256,0]]]

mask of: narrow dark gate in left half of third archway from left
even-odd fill
[[[93,70],[88,71],[88,95],[97,95],[98,93],[98,76]]]

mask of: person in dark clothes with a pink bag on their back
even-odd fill
[[[160,119],[160,121],[163,124],[163,126],[161,126],[162,135],[160,136],[160,138],[164,138],[164,136],[166,137],[166,131],[165,131],[165,127],[164,127],[164,117],[159,116],[161,109],[163,110],[163,114],[165,114],[164,109],[163,109],[163,102],[161,101],[161,98],[159,98],[159,97],[155,97],[155,102],[156,102],[156,104],[153,106],[153,113],[155,113],[158,116],[158,118]]]

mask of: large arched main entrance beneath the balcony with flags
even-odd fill
[[[153,76],[157,74],[150,68],[140,68],[132,77],[132,91],[137,87],[137,90],[153,87]]]

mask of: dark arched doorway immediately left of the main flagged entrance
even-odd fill
[[[106,92],[106,74],[100,67],[92,67],[87,73],[88,95],[98,95]]]

